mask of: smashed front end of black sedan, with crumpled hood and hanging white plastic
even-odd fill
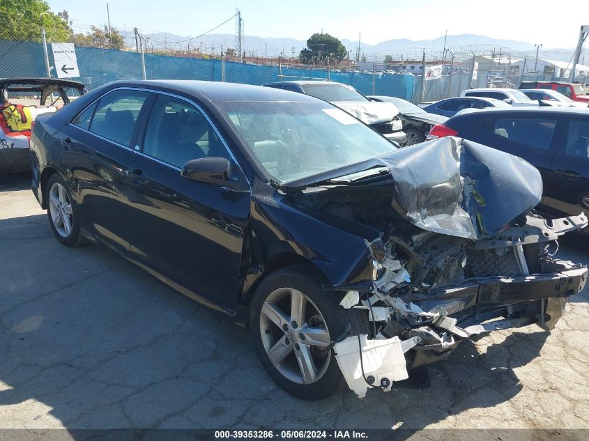
[[[550,330],[585,286],[587,268],[556,251],[558,238],[587,218],[536,215],[542,180],[527,162],[451,137],[379,162],[376,174],[335,178],[292,198],[381,232],[366,240],[369,273],[324,286],[369,320],[369,334],[352,329],[334,344],[358,396],[390,390],[408,378],[407,367],[442,359],[464,339],[531,323]]]

